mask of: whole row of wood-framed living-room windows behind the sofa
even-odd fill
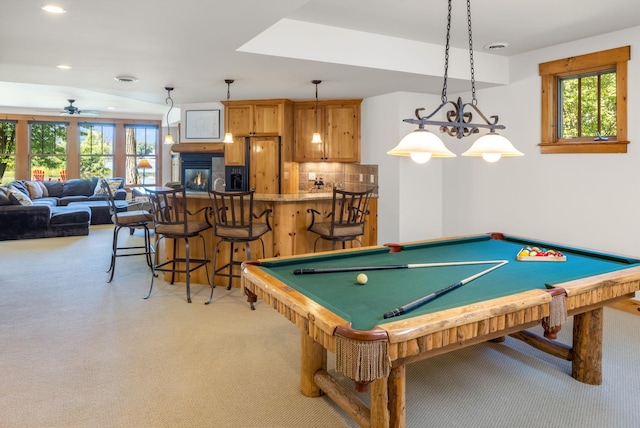
[[[92,177],[155,185],[162,171],[160,130],[159,120],[7,114],[0,119],[0,185]]]

